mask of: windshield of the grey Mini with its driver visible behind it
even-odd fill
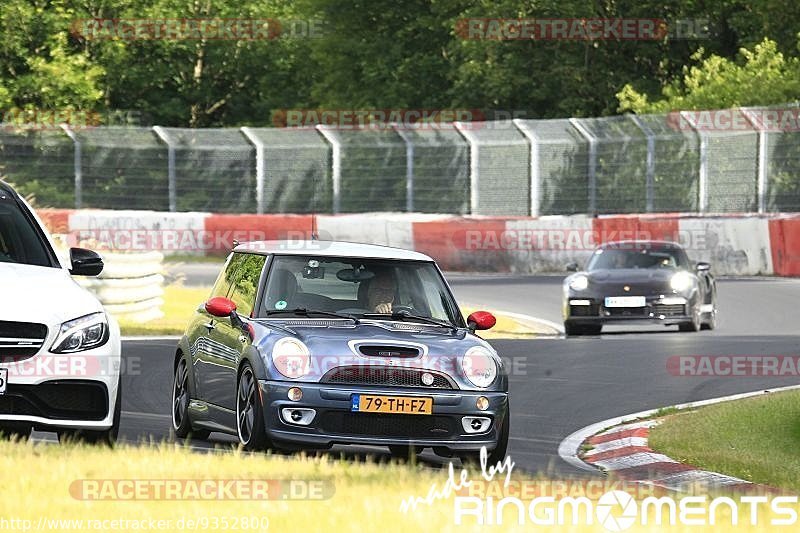
[[[357,318],[432,318],[463,326],[433,263],[318,256],[276,256],[260,317],[325,311]]]

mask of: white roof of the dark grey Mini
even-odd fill
[[[403,248],[342,241],[253,241],[240,244],[234,248],[234,252],[250,252],[264,255],[318,255],[323,257],[433,261],[425,254],[404,250]]]

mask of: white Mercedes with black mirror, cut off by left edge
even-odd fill
[[[102,258],[72,248],[69,266],[30,206],[0,181],[0,433],[112,444],[119,432],[119,326],[71,276]]]

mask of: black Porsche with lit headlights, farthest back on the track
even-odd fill
[[[598,247],[584,270],[567,265],[567,335],[597,335],[603,324],[660,323],[680,331],[713,329],[717,288],[711,265],[692,263],[677,243],[618,241]]]

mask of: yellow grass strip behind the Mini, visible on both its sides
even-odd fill
[[[185,287],[180,284],[168,285],[164,288],[164,318],[143,324],[120,321],[120,329],[125,336],[145,335],[183,335],[186,325],[197,306],[208,298],[210,287]],[[464,316],[468,316],[477,308],[462,307]],[[544,331],[539,331],[528,324],[503,313],[495,313],[497,325],[489,331],[481,332],[487,339],[531,338]],[[544,332],[548,333],[548,332]]]

